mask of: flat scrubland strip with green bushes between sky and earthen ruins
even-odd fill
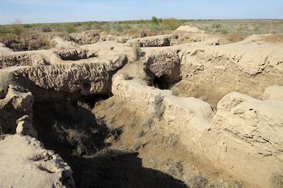
[[[153,16],[150,20],[137,21],[86,21],[75,23],[28,23],[21,24],[18,19],[16,24],[0,26],[0,35],[7,33],[37,33],[38,31],[51,31],[68,33],[99,30],[111,33],[113,35],[134,35],[144,37],[157,35],[172,31],[181,25],[196,26],[197,28],[212,33],[240,33],[245,35],[263,34],[263,33],[283,33],[282,20],[177,20],[175,18],[156,18]],[[42,29],[48,26],[48,30]],[[44,30],[44,31],[43,31]],[[227,31],[227,32],[226,32]],[[18,35],[19,35],[18,34]]]

